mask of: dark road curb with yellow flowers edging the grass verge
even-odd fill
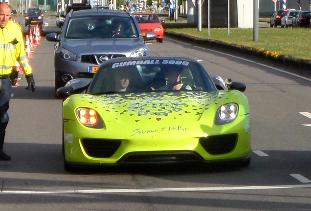
[[[276,52],[265,51],[263,49],[256,49],[248,46],[237,45],[222,41],[214,41],[208,39],[200,39],[191,36],[185,36],[174,32],[165,32],[165,36],[176,39],[178,41],[191,43],[201,47],[208,47],[214,49],[222,49],[229,52],[237,52],[267,59],[271,62],[282,64],[286,67],[294,67],[296,69],[311,71],[311,60],[296,59],[289,56],[277,54]]]

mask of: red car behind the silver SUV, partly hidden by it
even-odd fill
[[[134,17],[143,36],[145,36],[147,31],[150,31],[156,34],[157,42],[163,42],[164,28],[162,23],[165,22],[164,20],[160,21],[155,13],[137,13],[134,14]]]

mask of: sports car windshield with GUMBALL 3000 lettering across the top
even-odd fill
[[[120,92],[216,91],[198,63],[141,60],[107,64],[95,74],[90,94]]]

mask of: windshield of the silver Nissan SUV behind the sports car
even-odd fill
[[[98,16],[69,20],[66,38],[136,38],[139,37],[132,18]]]

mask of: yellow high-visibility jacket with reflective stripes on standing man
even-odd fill
[[[32,73],[25,52],[22,27],[8,21],[3,29],[0,28],[0,75],[10,74],[16,61],[20,63],[25,75]]]

